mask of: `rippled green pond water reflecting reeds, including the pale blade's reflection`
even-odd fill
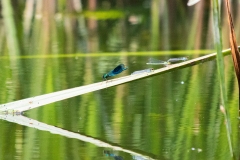
[[[0,43],[0,104],[103,81],[120,63],[128,69],[116,78],[158,69],[146,65],[149,58],[193,59],[214,52],[205,1],[192,8],[159,1],[160,11],[154,1],[141,2],[120,10],[58,13],[49,23],[36,16],[24,28],[20,55],[10,56]],[[233,15],[237,26],[239,15]],[[223,47],[229,48],[224,24]],[[239,159],[238,84],[231,56],[224,60],[228,130],[212,60],[23,115],[1,114],[0,160],[226,160],[232,159],[231,149]]]

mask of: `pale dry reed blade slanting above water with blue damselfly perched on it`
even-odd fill
[[[223,50],[222,54],[229,55],[230,49]],[[83,94],[90,93],[93,91],[113,87],[113,86],[120,85],[123,83],[136,81],[139,79],[148,78],[151,76],[155,76],[155,75],[159,75],[159,74],[163,74],[163,73],[167,73],[167,72],[172,72],[172,71],[180,69],[180,68],[193,66],[193,65],[214,59],[216,56],[217,56],[217,53],[212,53],[212,54],[208,54],[208,55],[205,55],[202,57],[191,59],[191,60],[188,60],[185,62],[172,64],[167,67],[160,68],[160,69],[155,69],[151,72],[128,75],[128,76],[124,76],[124,77],[120,77],[120,78],[115,78],[115,79],[110,79],[107,81],[102,81],[102,82],[85,85],[85,86],[80,86],[80,87],[76,87],[76,88],[71,88],[71,89],[52,92],[52,93],[39,95],[39,96],[35,96],[35,97],[30,97],[30,98],[26,98],[26,99],[14,101],[14,102],[9,102],[6,104],[0,104],[0,115],[1,114],[13,114],[13,113],[20,114],[20,112],[27,111],[27,110],[37,108],[40,106],[44,106],[44,105],[47,105],[50,103],[58,102],[58,101],[61,101],[64,99],[76,97],[79,95],[83,95]]]

